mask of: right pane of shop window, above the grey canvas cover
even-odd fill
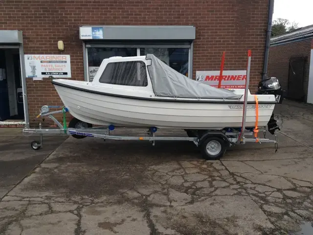
[[[140,55],[154,54],[165,64],[188,77],[189,48],[140,48]]]

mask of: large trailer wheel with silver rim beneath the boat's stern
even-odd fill
[[[201,143],[200,149],[205,160],[218,160],[226,152],[226,142],[219,137],[209,137]]]

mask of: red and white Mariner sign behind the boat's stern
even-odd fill
[[[218,87],[220,71],[196,71],[196,80],[212,87]],[[222,88],[246,88],[246,70],[223,71]]]

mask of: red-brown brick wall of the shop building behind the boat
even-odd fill
[[[252,50],[251,92],[261,78],[268,0],[2,0],[0,30],[23,31],[24,53],[70,54],[72,79],[83,80],[79,25],[194,25],[193,77],[197,70],[246,69]],[[50,81],[27,81],[30,119],[45,104],[62,105]]]

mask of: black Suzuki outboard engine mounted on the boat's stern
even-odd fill
[[[270,77],[260,81],[256,94],[273,94],[278,104],[281,104],[284,99],[282,87],[276,77]],[[280,128],[277,125],[277,120],[274,119],[274,113],[272,113],[268,121],[268,132],[274,135],[275,130],[280,130]]]

